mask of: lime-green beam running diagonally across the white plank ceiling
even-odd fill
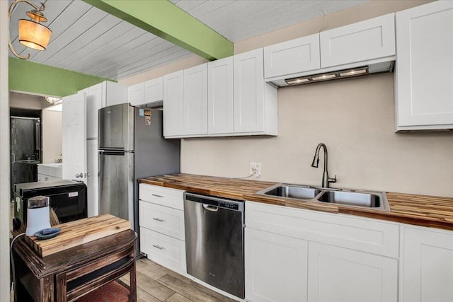
[[[233,43],[168,0],[84,0],[208,60],[233,55]]]

